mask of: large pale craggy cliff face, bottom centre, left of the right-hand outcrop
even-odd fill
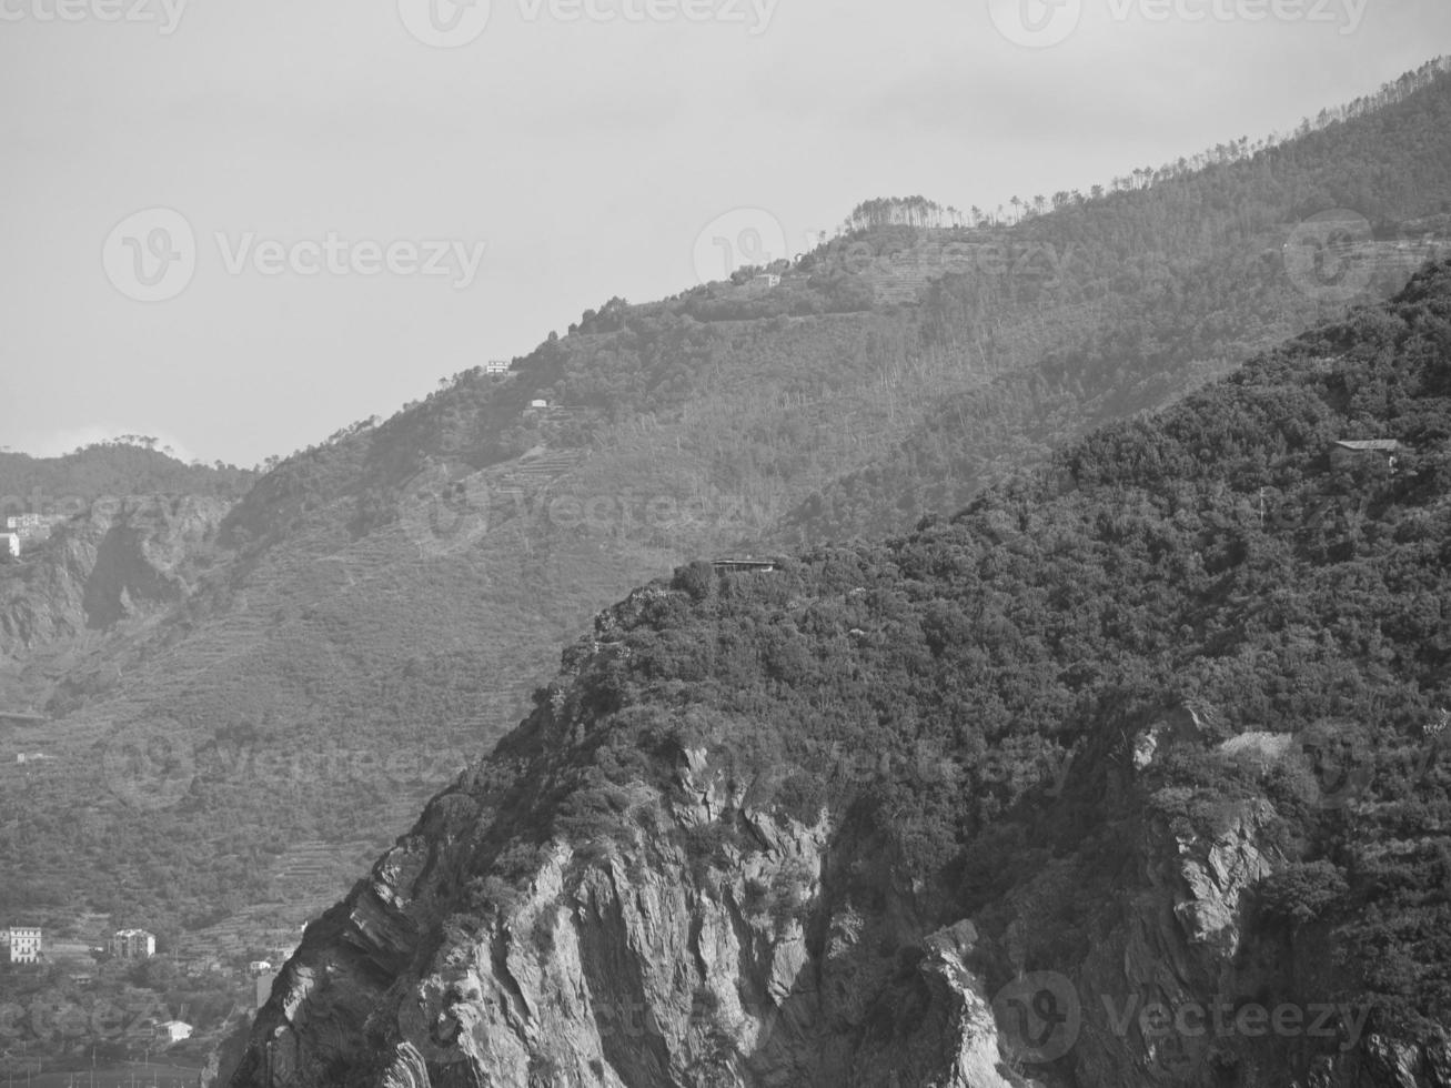
[[[466,776],[309,927],[232,1084],[1011,1084],[971,924],[924,933],[871,843],[679,765],[514,892],[476,879],[514,783]],[[863,860],[882,902],[847,888]]]

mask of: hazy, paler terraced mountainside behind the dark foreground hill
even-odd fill
[[[1429,68],[1283,144],[1017,222],[869,202],[773,289],[612,299],[506,376],[287,458],[216,524],[147,505],[77,525],[0,574],[6,676],[46,718],[0,734],[0,917],[126,904],[180,940],[244,908],[315,914],[630,586],[903,531],[1403,283],[1438,244],[1448,103]],[[1347,250],[1326,207],[1380,239]]]

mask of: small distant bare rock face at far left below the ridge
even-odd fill
[[[0,653],[145,619],[184,599],[190,559],[228,503],[218,499],[118,499],[58,527],[35,557],[0,569]]]

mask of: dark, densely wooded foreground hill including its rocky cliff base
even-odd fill
[[[1441,1088],[1448,496],[1451,261],[903,538],[682,566],[234,1084]]]

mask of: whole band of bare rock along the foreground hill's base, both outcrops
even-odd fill
[[[1313,1013],[1333,989],[1254,927],[1283,862],[1262,799],[1212,836],[1126,823],[1084,952],[1048,962],[1082,859],[943,928],[871,834],[752,807],[702,747],[669,785],[618,791],[608,833],[525,849],[591,728],[566,704],[543,699],[309,927],[234,1088],[1451,1085],[1445,1053],[1361,1039],[1357,1010],[1332,1010],[1331,1037],[1236,1027],[1246,1002]],[[1190,743],[1188,724],[1158,733]]]

